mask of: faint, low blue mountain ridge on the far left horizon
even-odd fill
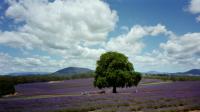
[[[9,73],[7,75],[12,75],[12,76],[25,76],[25,75],[46,75],[49,74],[48,72],[14,72],[14,73]]]

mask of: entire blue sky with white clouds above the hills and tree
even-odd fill
[[[95,70],[124,53],[135,71],[200,66],[200,0],[1,0],[0,73]]]

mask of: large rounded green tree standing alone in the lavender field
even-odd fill
[[[134,72],[133,64],[122,53],[106,52],[97,61],[95,87],[113,87],[113,93],[116,93],[117,87],[137,86],[140,80],[141,74]]]

